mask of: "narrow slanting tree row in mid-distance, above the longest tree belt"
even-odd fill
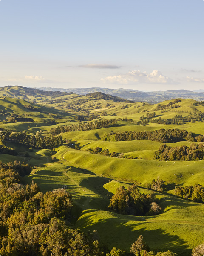
[[[97,122],[79,123],[77,125],[62,125],[51,128],[50,134],[57,135],[67,131],[88,131],[101,128],[107,128],[116,124],[115,119],[99,120]]]

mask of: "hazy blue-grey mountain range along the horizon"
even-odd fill
[[[167,91],[153,91],[153,92],[142,92],[138,90],[131,89],[109,89],[109,88],[100,88],[100,87],[92,87],[92,88],[49,88],[43,87],[38,88],[40,90],[47,91],[61,91],[61,92],[73,92],[77,94],[86,95],[88,93],[101,92],[113,96],[117,96],[123,99],[128,99],[131,101],[145,101],[149,103],[158,103],[164,100],[169,99],[195,99],[198,101],[204,100],[204,90],[198,91],[189,91],[189,90],[167,90]]]

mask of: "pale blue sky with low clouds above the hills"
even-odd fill
[[[0,0],[0,87],[204,89],[203,0]]]

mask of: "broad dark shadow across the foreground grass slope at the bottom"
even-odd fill
[[[188,249],[186,241],[178,235],[167,233],[167,230],[158,228],[157,223],[142,221],[142,218],[109,214],[108,218],[97,216],[96,211],[86,211],[88,216],[79,219],[77,225],[82,224],[85,230],[98,230],[102,242],[109,248],[113,246],[130,251],[131,244],[139,237],[143,236],[144,241],[150,246],[151,250],[167,251],[172,250],[179,256],[190,256],[191,249]],[[111,216],[112,215],[112,216]],[[135,221],[134,223],[132,222]],[[169,224],[171,225],[171,224]],[[173,225],[173,224],[172,224]],[[172,228],[172,227],[171,227]],[[173,231],[174,232],[174,231]]]

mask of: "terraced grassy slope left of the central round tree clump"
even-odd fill
[[[74,203],[81,209],[106,209],[109,199],[106,196],[108,191],[103,185],[108,180],[88,170],[66,164],[48,164],[24,177],[24,182],[30,183],[33,180],[42,192],[66,188],[73,196]]]

